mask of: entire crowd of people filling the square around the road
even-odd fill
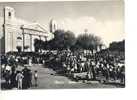
[[[28,64],[25,66],[25,64]],[[121,84],[125,84],[125,64],[124,57],[121,55],[111,54],[92,54],[81,51],[62,50],[47,52],[38,55],[2,55],[1,56],[1,77],[5,79],[6,87],[27,89],[32,86],[32,78],[34,86],[38,85],[37,70],[32,72],[32,64],[45,64],[55,71],[60,71],[63,75],[76,80],[82,79],[77,73],[86,73],[86,80],[103,79],[104,82],[119,80]],[[18,66],[22,66],[22,70],[18,70]]]

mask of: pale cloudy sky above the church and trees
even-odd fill
[[[51,19],[57,22],[59,29],[70,30],[76,36],[87,29],[87,33],[101,37],[106,46],[125,38],[123,0],[1,2],[0,16],[4,6],[13,7],[17,18],[37,22],[47,30]]]

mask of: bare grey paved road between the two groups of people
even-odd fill
[[[114,85],[104,85],[96,81],[83,83],[71,81],[65,76],[57,75],[52,69],[42,65],[33,65],[32,72],[38,71],[38,87],[32,89],[61,89],[61,88],[116,88]],[[33,80],[34,83],[34,80]]]

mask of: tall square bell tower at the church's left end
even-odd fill
[[[16,44],[16,34],[14,32],[14,19],[15,19],[15,10],[11,7],[4,7],[3,9],[3,33],[4,33],[4,51],[14,51]]]

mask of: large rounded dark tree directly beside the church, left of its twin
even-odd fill
[[[57,30],[54,32],[54,39],[48,42],[48,47],[50,47],[50,49],[63,50],[71,48],[75,42],[76,38],[73,32]]]

